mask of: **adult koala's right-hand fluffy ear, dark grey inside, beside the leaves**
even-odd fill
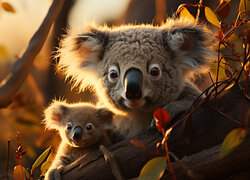
[[[169,20],[163,31],[165,46],[174,53],[184,72],[207,69],[214,57],[212,33],[185,19]]]

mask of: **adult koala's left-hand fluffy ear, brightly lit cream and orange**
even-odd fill
[[[72,77],[81,89],[93,85],[99,79],[97,66],[107,39],[107,34],[93,28],[83,34],[69,32],[58,50],[58,69],[63,70],[67,78]]]

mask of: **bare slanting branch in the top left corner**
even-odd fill
[[[53,22],[56,20],[59,12],[61,11],[63,3],[64,0],[53,1],[47,16],[37,32],[31,38],[23,56],[16,61],[10,77],[0,87],[0,108],[7,107],[11,103],[11,99],[21,87],[27,75],[30,73],[33,61],[40,52]]]

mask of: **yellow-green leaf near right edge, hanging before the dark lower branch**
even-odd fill
[[[228,133],[221,146],[220,158],[225,157],[234,148],[240,145],[246,137],[246,133],[247,130],[242,128],[234,129],[230,133]]]

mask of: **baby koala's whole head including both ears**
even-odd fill
[[[104,125],[112,120],[112,113],[91,104],[69,105],[54,102],[45,111],[47,128],[60,132],[63,141],[74,147],[95,144],[104,133]]]

